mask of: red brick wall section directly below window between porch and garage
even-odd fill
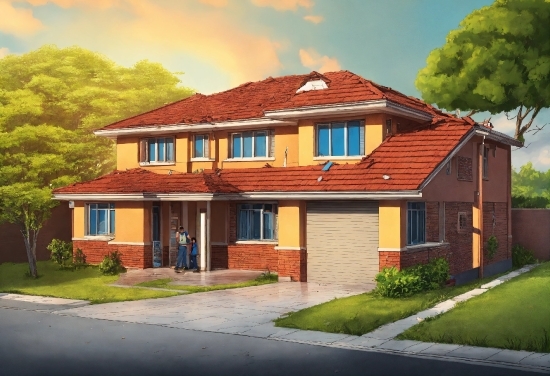
[[[227,257],[229,269],[278,271],[279,255],[274,244],[230,244]]]

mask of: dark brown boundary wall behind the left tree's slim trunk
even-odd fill
[[[67,202],[61,202],[52,210],[50,219],[38,234],[36,243],[36,258],[39,261],[48,260],[50,252],[46,249],[52,239],[71,241],[71,211]],[[0,264],[3,262],[28,262],[23,235],[19,226],[12,224],[0,225]]]

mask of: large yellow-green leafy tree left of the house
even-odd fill
[[[179,84],[160,64],[125,68],[79,47],[0,59],[0,223],[20,225],[31,275],[51,190],[115,166],[113,143],[93,130],[192,93]]]

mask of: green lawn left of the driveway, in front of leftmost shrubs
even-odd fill
[[[103,276],[93,266],[75,271],[59,270],[59,266],[51,261],[39,261],[37,279],[27,277],[28,270],[26,263],[0,264],[0,292],[82,299],[92,304],[179,295],[171,291],[107,286],[118,276]]]

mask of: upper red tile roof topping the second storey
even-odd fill
[[[296,93],[307,81],[323,79],[328,89]],[[264,111],[386,99],[428,114],[441,114],[419,99],[378,85],[349,71],[312,72],[248,82],[212,95],[195,94],[155,110],[107,125],[103,130],[147,125],[197,124],[264,117]]]

